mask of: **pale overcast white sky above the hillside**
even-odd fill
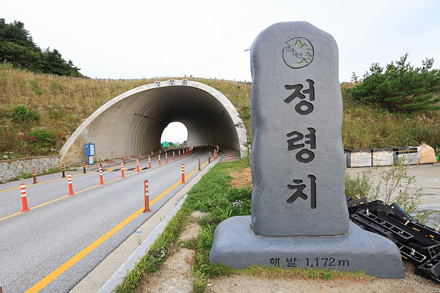
[[[439,0],[20,0],[2,1],[0,11],[91,78],[250,81],[243,51],[282,21],[308,21],[334,37],[340,82],[405,53],[412,65],[434,58],[440,68]]]

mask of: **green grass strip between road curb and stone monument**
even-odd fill
[[[146,282],[153,272],[159,272],[166,258],[179,248],[196,250],[196,264],[193,266],[195,292],[205,292],[213,278],[229,275],[255,275],[264,278],[300,278],[371,280],[372,277],[360,272],[338,272],[324,269],[282,269],[280,267],[253,266],[246,270],[236,270],[221,264],[209,263],[209,251],[214,239],[214,230],[221,221],[251,213],[251,184],[244,183],[237,188],[231,184],[231,174],[243,173],[249,168],[246,159],[218,163],[188,192],[188,197],[176,216],[169,222],[165,231],[158,237],[150,251],[136,264],[124,282],[116,289],[118,293],[135,292]],[[208,213],[196,220],[191,217],[194,211]],[[180,235],[192,221],[198,222],[200,232],[192,240],[180,241]]]

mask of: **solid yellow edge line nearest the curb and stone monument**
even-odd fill
[[[208,164],[208,162],[206,162],[204,165]],[[204,166],[203,165],[203,166]],[[198,169],[196,169],[195,171],[193,171],[190,175],[188,175],[185,178],[190,177],[192,174],[196,173],[198,171]],[[120,179],[120,178],[118,178]],[[150,202],[150,206],[152,206],[155,202],[157,202],[159,199],[161,199],[163,196],[165,196],[168,192],[170,192],[171,190],[173,190],[174,188],[176,188],[178,185],[180,185],[181,182],[177,182],[175,185],[173,185],[172,187],[168,188],[167,190],[165,190],[164,192],[162,192],[159,196],[157,196],[156,198],[154,198],[154,200],[152,200]],[[109,239],[111,236],[113,236],[117,231],[121,230],[122,228],[124,228],[128,223],[130,223],[134,218],[136,218],[138,215],[140,215],[143,211],[144,211],[145,207],[142,207],[141,209],[138,209],[136,212],[134,212],[131,216],[129,216],[127,219],[125,219],[124,221],[122,221],[121,223],[119,223],[118,225],[116,225],[116,227],[114,227],[113,229],[111,229],[110,231],[108,231],[107,233],[105,233],[103,236],[101,236],[100,238],[98,238],[98,240],[96,240],[95,242],[93,242],[92,244],[90,244],[88,247],[86,247],[84,250],[80,251],[79,253],[77,253],[75,256],[73,256],[71,259],[69,259],[68,261],[66,261],[63,265],[61,265],[61,267],[59,267],[58,269],[56,269],[55,271],[49,273],[47,276],[45,276],[43,278],[43,280],[41,280],[40,282],[38,282],[37,284],[35,284],[34,286],[32,286],[29,290],[27,290],[25,293],[37,293],[40,290],[42,290],[44,287],[46,287],[47,285],[49,285],[49,283],[51,283],[53,280],[55,280],[56,278],[58,278],[62,273],[66,272],[69,268],[71,268],[74,264],[76,264],[77,262],[79,262],[81,259],[83,259],[86,255],[88,255],[88,253],[90,253],[91,251],[93,251],[95,248],[97,248],[99,245],[101,245],[102,243],[104,243],[107,239]]]

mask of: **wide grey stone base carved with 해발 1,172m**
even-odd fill
[[[280,265],[287,269],[362,271],[378,278],[405,277],[397,246],[352,222],[345,235],[313,237],[257,236],[250,223],[251,216],[231,217],[221,222],[214,233],[209,261],[236,269],[252,264]]]

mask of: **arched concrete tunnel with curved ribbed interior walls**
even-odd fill
[[[160,147],[165,127],[180,122],[188,129],[188,146],[214,144],[245,153],[246,132],[232,103],[209,85],[175,80],[146,84],[102,105],[61,148],[61,162],[87,162],[86,143],[94,143],[95,159],[148,154]]]

